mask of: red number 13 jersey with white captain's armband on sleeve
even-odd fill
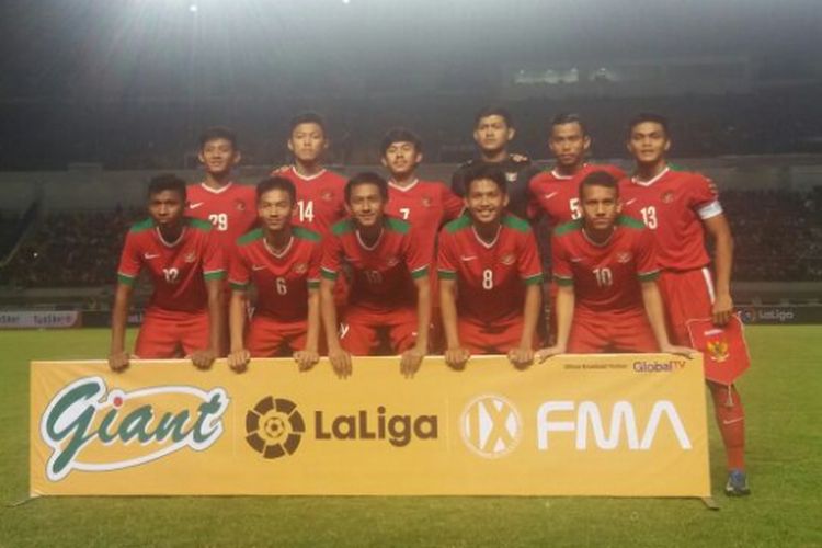
[[[641,218],[657,237],[661,267],[687,271],[710,263],[701,221],[720,215],[722,206],[709,179],[667,167],[650,181],[623,179],[619,193],[625,213]]]

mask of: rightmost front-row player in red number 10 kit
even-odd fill
[[[594,171],[580,183],[582,218],[557,227],[551,240],[557,343],[539,359],[566,352],[670,352],[653,235],[621,215],[617,180]]]

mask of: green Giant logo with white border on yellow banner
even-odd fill
[[[106,393],[107,392],[107,393]],[[151,398],[194,398],[196,411],[158,413]],[[127,406],[128,402],[142,402]],[[132,392],[107,391],[101,377],[77,380],[54,397],[39,423],[43,441],[53,449],[46,476],[59,481],[72,469],[101,472],[140,466],[184,447],[204,450],[222,435],[222,414],[229,398],[222,388],[210,391],[190,386],[160,386]],[[129,411],[126,411],[129,408]],[[130,458],[107,460],[104,447],[133,447]],[[145,449],[142,449],[145,448]],[[103,449],[103,450],[101,450]],[[95,457],[88,455],[95,454]],[[139,453],[139,454],[138,454]],[[83,455],[88,459],[83,458]]]

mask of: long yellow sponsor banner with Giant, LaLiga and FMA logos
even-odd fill
[[[34,362],[32,495],[708,496],[701,358]]]

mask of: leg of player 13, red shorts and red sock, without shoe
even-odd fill
[[[690,345],[687,320],[710,318],[713,304],[713,283],[708,269],[697,269],[673,273],[663,271],[660,276],[660,292],[665,301],[670,317],[671,331],[674,343]],[[713,412],[717,426],[722,434],[729,471],[728,494],[747,494],[744,472],[745,453],[745,412],[742,400],[735,388],[729,391],[727,387],[708,383],[713,400]],[[731,487],[731,480],[739,488]]]

